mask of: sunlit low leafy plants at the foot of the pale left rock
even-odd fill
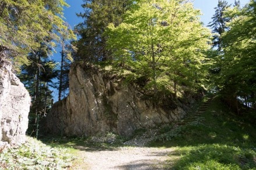
[[[0,169],[69,169],[72,158],[63,148],[52,148],[27,137],[17,149],[5,149],[0,154]]]

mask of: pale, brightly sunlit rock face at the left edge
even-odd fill
[[[24,143],[30,96],[8,61],[0,58],[0,142]]]

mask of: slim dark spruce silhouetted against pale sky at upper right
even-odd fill
[[[237,4],[237,2],[236,2]],[[218,6],[215,9],[215,14],[212,17],[212,21],[208,24],[208,27],[212,29],[213,36],[213,48],[218,48],[221,51],[221,36],[227,31],[227,23],[230,21],[230,18],[225,16],[225,11],[230,7],[226,1],[218,1]]]

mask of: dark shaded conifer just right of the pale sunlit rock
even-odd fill
[[[44,45],[41,45],[40,50],[30,53],[30,64],[23,65],[22,71],[19,74],[20,80],[28,89],[31,95],[30,107],[30,125],[31,133],[37,132],[37,127],[34,124],[38,123],[38,116],[47,115],[51,108],[52,91],[49,86],[53,86],[52,79],[56,78],[55,70],[56,63],[48,59],[47,50]]]

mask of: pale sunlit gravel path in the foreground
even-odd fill
[[[173,149],[154,147],[118,147],[109,150],[95,150],[77,147],[79,157],[83,160],[74,169],[166,169],[168,154]]]

